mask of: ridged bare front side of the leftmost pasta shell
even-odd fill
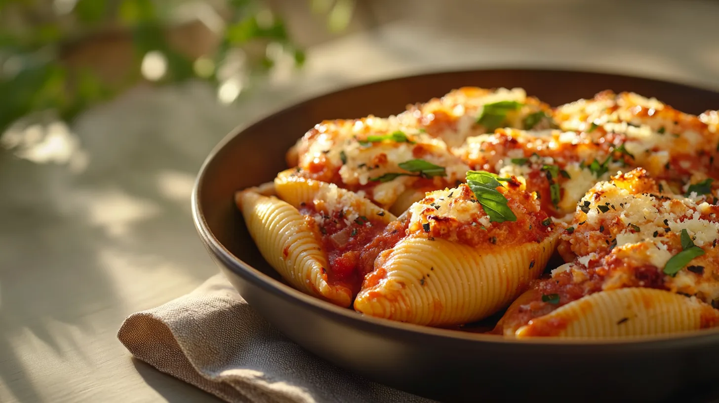
[[[327,283],[327,255],[295,207],[255,191],[240,191],[235,201],[262,257],[283,279],[306,294],[341,307],[352,304],[349,288]]]

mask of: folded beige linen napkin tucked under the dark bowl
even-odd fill
[[[130,315],[117,337],[133,356],[227,402],[431,402],[306,352],[244,302],[224,276]]]

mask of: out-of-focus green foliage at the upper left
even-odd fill
[[[311,0],[314,12],[327,15],[331,31],[349,22],[354,0]],[[288,35],[283,19],[268,13],[262,0],[206,0],[221,16],[219,44],[214,54],[191,58],[171,44],[168,27],[173,10],[183,1],[170,0],[0,0],[0,134],[33,112],[51,110],[70,121],[83,109],[111,99],[145,80],[142,62],[148,53],[164,57],[164,73],[157,83],[200,78],[221,86],[221,65],[233,50],[260,43],[281,45],[296,65],[305,54]],[[218,6],[219,4],[219,6]],[[339,11],[338,11],[339,9]],[[348,11],[349,10],[349,11]],[[104,80],[83,63],[68,63],[73,47],[103,32],[132,38],[132,66],[119,82]],[[267,52],[269,53],[269,52]],[[244,60],[244,74],[266,72],[275,60],[262,52],[258,60]],[[87,64],[87,63],[86,63]]]

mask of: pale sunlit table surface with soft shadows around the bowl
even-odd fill
[[[396,1],[402,19],[314,47],[303,71],[232,107],[202,83],[138,88],[69,129],[4,136],[0,402],[217,401],[134,361],[116,331],[127,315],[216,273],[189,194],[206,154],[237,124],[353,83],[482,66],[585,68],[719,89],[715,1],[431,3]]]

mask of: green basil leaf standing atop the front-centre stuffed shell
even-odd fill
[[[507,198],[497,190],[502,186],[499,181],[509,180],[485,171],[467,171],[467,186],[470,186],[482,209],[490,217],[490,222],[517,220],[507,205]]]

